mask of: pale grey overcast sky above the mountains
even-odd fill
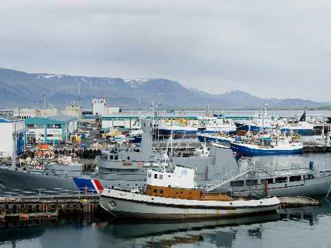
[[[331,101],[331,1],[0,1],[0,67]]]

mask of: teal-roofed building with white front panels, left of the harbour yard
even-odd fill
[[[38,116],[25,120],[25,142],[55,142],[67,140],[77,131],[77,117],[66,115]]]

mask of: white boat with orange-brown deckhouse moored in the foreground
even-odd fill
[[[119,217],[142,219],[197,219],[275,212],[277,197],[234,199],[209,194],[195,186],[195,170],[176,166],[172,172],[147,171],[145,190],[123,191],[105,188],[100,205]]]

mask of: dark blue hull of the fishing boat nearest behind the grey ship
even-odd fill
[[[293,147],[292,149],[263,149],[258,147],[248,147],[245,145],[230,143],[232,151],[245,155],[277,155],[277,154],[299,154],[302,153],[303,147]]]

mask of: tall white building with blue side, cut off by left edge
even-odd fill
[[[0,155],[3,158],[12,157],[14,149],[16,156],[25,151],[25,127],[24,120],[16,119],[13,116],[0,117]]]

